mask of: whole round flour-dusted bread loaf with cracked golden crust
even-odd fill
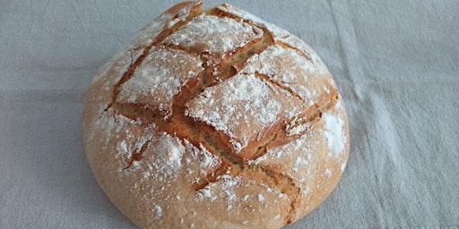
[[[101,67],[83,113],[91,169],[143,228],[280,228],[341,177],[342,99],[299,38],[201,5],[160,14]]]

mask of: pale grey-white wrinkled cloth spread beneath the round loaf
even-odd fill
[[[86,162],[82,102],[97,69],[175,3],[0,3],[0,228],[134,228]],[[287,228],[459,227],[459,1],[228,3],[313,47],[348,110],[342,181]]]

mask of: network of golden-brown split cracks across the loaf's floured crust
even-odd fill
[[[212,154],[220,157],[223,163],[214,171],[212,171],[212,173],[207,174],[203,179],[200,179],[204,182],[191,184],[191,187],[195,191],[204,189],[212,182],[216,182],[217,178],[223,174],[237,175],[242,171],[249,171],[253,173],[256,171],[262,172],[261,174],[263,174],[265,178],[273,181],[273,189],[276,189],[277,191],[280,191],[289,197],[290,211],[283,220],[285,224],[290,224],[295,221],[296,217],[297,204],[300,195],[299,185],[288,174],[276,173],[269,168],[251,163],[253,159],[264,156],[267,147],[279,146],[295,139],[295,136],[290,136],[288,138],[283,138],[286,140],[278,140],[281,139],[279,138],[281,135],[285,137],[286,133],[284,130],[288,122],[286,122],[286,120],[281,120],[274,124],[273,127],[276,128],[276,130],[274,131],[273,137],[267,141],[261,142],[260,146],[258,146],[256,149],[255,158],[247,159],[244,157],[239,157],[236,154],[235,149],[232,148],[229,143],[230,138],[226,134],[221,131],[214,130],[212,126],[206,123],[198,122],[193,118],[186,116],[185,104],[186,101],[195,97],[204,89],[212,87],[221,81],[229,80],[231,77],[235,76],[243,68],[249,57],[255,54],[260,54],[265,50],[266,47],[272,46],[274,44],[281,44],[282,46],[290,47],[299,51],[299,53],[304,55],[307,60],[310,60],[310,57],[307,56],[307,54],[300,52],[300,50],[296,47],[291,47],[285,43],[275,42],[273,34],[266,28],[256,26],[254,23],[247,19],[238,18],[236,15],[224,13],[214,8],[204,13],[218,17],[229,17],[238,21],[247,22],[247,24],[251,25],[252,27],[263,30],[263,36],[261,38],[250,41],[244,47],[238,48],[236,52],[227,55],[227,58],[222,59],[216,64],[206,64],[209,60],[208,55],[199,52],[198,50],[185,49],[185,51],[199,54],[204,63],[204,71],[200,72],[195,78],[188,80],[186,85],[180,89],[178,95],[176,95],[173,99],[174,102],[172,106],[172,114],[169,117],[165,117],[163,113],[152,107],[117,102],[117,95],[119,94],[120,87],[133,76],[135,69],[137,66],[143,63],[143,60],[149,54],[152,47],[163,46],[160,45],[160,43],[172,32],[178,30],[178,28],[186,24],[186,22],[192,21],[200,13],[203,13],[199,9],[200,7],[201,5],[199,5],[197,9],[193,9],[191,13],[186,17],[185,21],[178,22],[172,28],[164,28],[160,32],[160,35],[152,42],[152,44],[150,44],[148,47],[145,47],[143,55],[141,55],[137,61],[129,66],[128,71],[125,72],[121,80],[118,81],[117,85],[114,87],[112,102],[108,107],[113,107],[113,109],[116,110],[118,114],[122,114],[130,119],[141,119],[146,123],[155,123],[157,125],[157,131],[166,131],[170,135],[178,137],[178,139],[182,141],[189,140],[189,142],[195,146],[202,144],[204,148],[209,149]],[[184,50],[184,48],[179,46],[166,47]],[[279,83],[275,83],[267,76],[258,73],[256,76],[273,84],[274,87],[288,91],[291,96],[300,98],[299,95],[296,94],[293,90],[288,89]],[[325,106],[316,107],[316,111],[313,113],[313,115],[306,117],[304,122],[316,123],[315,120],[320,118],[323,111],[332,107],[336,103],[336,100],[337,98],[333,98],[332,101],[329,101]],[[304,116],[304,114],[299,114],[297,115],[297,118],[302,116]],[[149,143],[150,141],[146,141],[142,148],[140,148],[138,152],[131,156],[128,165],[124,169],[128,169],[134,161],[141,160],[143,158],[143,152],[148,148]]]

